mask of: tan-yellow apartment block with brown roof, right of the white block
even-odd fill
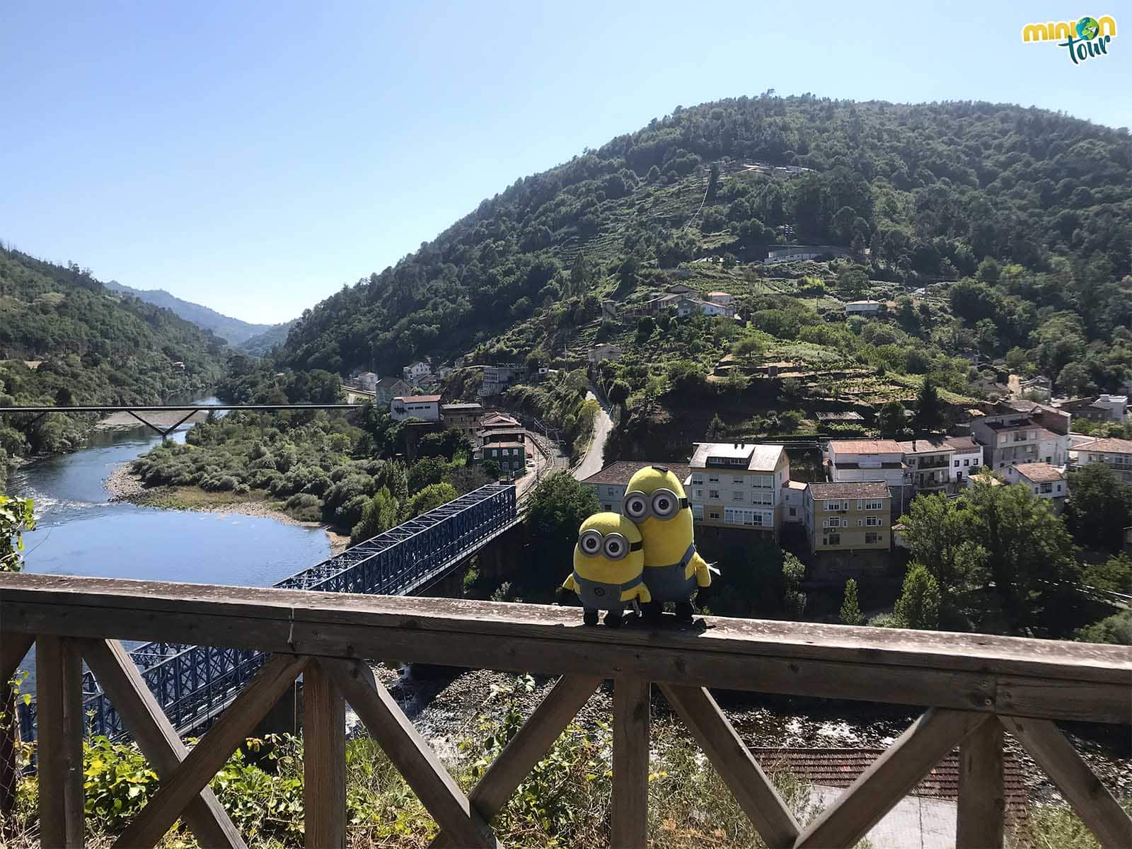
[[[892,494],[882,481],[808,483],[805,494],[809,550],[889,550]]]

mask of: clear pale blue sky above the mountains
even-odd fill
[[[1132,12],[1064,2],[26,2],[0,239],[276,321],[677,105],[987,100],[1127,126]],[[1108,57],[1023,44],[1112,14]]]

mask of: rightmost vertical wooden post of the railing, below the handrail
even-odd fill
[[[1002,723],[988,719],[959,747],[955,849],[1001,849],[1005,830]]]

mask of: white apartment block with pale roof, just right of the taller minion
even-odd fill
[[[790,460],[781,445],[696,443],[685,487],[705,525],[765,531],[778,540]]]

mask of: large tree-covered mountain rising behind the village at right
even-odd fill
[[[743,170],[753,162],[808,170],[779,179]],[[1132,318],[1132,285],[1122,283],[1130,222],[1125,129],[990,103],[726,100],[678,108],[517,180],[394,267],[306,311],[284,360],[388,372],[490,344],[524,321],[500,355],[549,360],[598,318],[598,297],[624,300],[638,284],[669,282],[663,271],[681,263],[751,261],[791,241],[852,251],[872,282],[972,277],[954,310],[906,316],[895,327],[906,346],[917,348],[910,334],[934,340],[928,353],[940,357],[1018,349],[1056,377]],[[974,280],[988,258],[1003,271],[987,266]],[[743,306],[760,312],[775,300]],[[779,329],[769,332],[781,338]]]

